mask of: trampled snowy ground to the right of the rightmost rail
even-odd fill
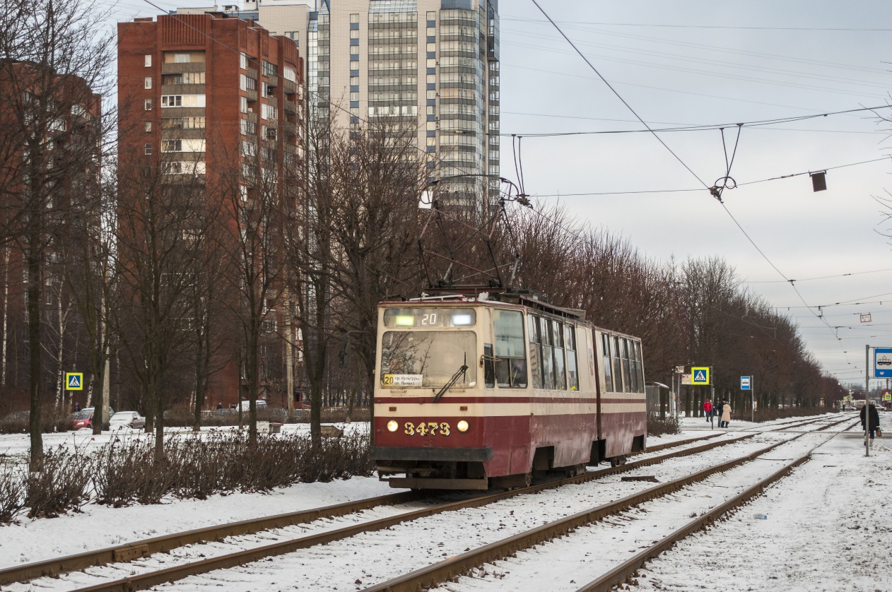
[[[730,520],[648,563],[635,589],[892,589],[892,441],[866,457],[862,433],[841,434]]]

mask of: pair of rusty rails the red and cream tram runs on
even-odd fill
[[[841,423],[844,420],[840,420],[838,422],[830,423],[826,427],[830,427],[832,424]],[[700,437],[695,439],[687,439],[687,440],[677,440],[675,442],[669,442],[665,445],[658,445],[657,447],[648,448],[642,453],[654,453],[657,450],[662,450],[666,448],[681,448],[688,446],[690,444],[697,444],[698,441],[701,440],[713,440],[718,438],[719,436],[728,435],[731,436],[734,432],[723,432],[720,434],[714,434],[707,436],[706,438]],[[603,478],[607,475],[613,475],[616,473],[625,473],[628,471],[632,471],[634,469],[638,469],[643,466],[648,465],[656,465],[658,463],[662,463],[665,460],[669,460],[671,458],[677,458],[680,456],[690,456],[695,455],[700,452],[705,452],[706,450],[711,450],[713,448],[718,448],[721,446],[725,446],[728,444],[733,444],[740,442],[742,440],[747,440],[756,436],[756,433],[746,434],[742,437],[731,437],[723,440],[712,441],[704,444],[699,444],[696,446],[690,446],[689,448],[681,448],[679,450],[675,450],[669,454],[659,455],[659,456],[648,456],[646,458],[642,458],[638,461],[632,461],[627,463],[626,465],[605,468],[596,470],[590,473],[584,473],[582,475],[577,475],[575,477],[569,477],[565,479],[559,479],[556,481],[548,481],[544,483],[539,483],[533,485],[529,488],[523,489],[515,489],[512,491],[501,491],[494,494],[472,497],[465,500],[460,500],[458,502],[450,502],[447,504],[440,504],[437,506],[425,507],[420,510],[414,510],[407,513],[395,514],[393,516],[386,517],[381,520],[373,521],[373,522],[364,522],[356,525],[351,525],[349,527],[345,527],[337,530],[330,530],[326,532],[321,532],[316,535],[311,535],[309,537],[303,537],[301,539],[290,539],[285,541],[278,541],[272,545],[264,545],[262,547],[254,547],[250,549],[245,549],[236,553],[230,553],[226,555],[220,555],[218,557],[212,557],[210,559],[205,559],[200,562],[191,562],[185,563],[183,565],[173,566],[162,570],[151,571],[145,574],[135,574],[131,577],[121,579],[121,580],[113,580],[106,581],[95,586],[90,586],[87,588],[78,588],[80,590],[136,590],[136,589],[145,589],[149,588],[163,582],[167,581],[175,581],[185,578],[189,575],[195,575],[199,573],[205,573],[208,571],[215,571],[219,569],[224,569],[227,567],[234,567],[236,565],[242,565],[244,563],[250,563],[253,561],[258,561],[260,559],[274,556],[274,555],[283,555],[286,553],[291,553],[294,550],[301,548],[314,547],[318,545],[324,545],[328,542],[332,542],[335,540],[346,539],[352,536],[355,536],[362,532],[371,532],[374,530],[382,530],[390,528],[395,524],[399,524],[400,522],[409,522],[413,520],[418,520],[424,518],[425,516],[430,516],[434,514],[442,514],[444,512],[454,511],[465,507],[477,507],[477,506],[486,506],[488,504],[494,503],[496,501],[500,501],[501,499],[506,499],[508,497],[515,497],[523,494],[536,493],[539,491],[544,491],[546,489],[555,489],[570,483],[582,483],[585,481],[592,481],[595,479]],[[803,434],[800,434],[803,435]],[[795,438],[797,438],[796,436]],[[795,440],[795,438],[791,440]],[[786,441],[786,440],[785,440]],[[738,461],[731,461],[738,462]],[[729,465],[729,463],[725,463],[723,465],[719,465],[719,468],[707,469],[711,473],[714,473],[719,470],[723,470],[720,467],[725,465]],[[143,541],[137,541],[134,543],[130,543],[128,545],[123,545],[119,547],[110,547],[106,549],[102,549],[99,551],[95,551],[92,553],[84,553],[79,555],[70,555],[68,557],[57,558],[53,560],[47,560],[45,562],[39,563],[31,563],[29,565],[17,566],[15,568],[10,568],[7,570],[0,571],[0,583],[11,583],[11,582],[22,582],[26,580],[32,580],[41,575],[43,576],[55,576],[58,577],[59,574],[62,574],[66,571],[78,571],[83,570],[87,566],[93,565],[102,565],[108,563],[117,563],[126,565],[125,562],[139,559],[142,557],[146,557],[149,555],[157,554],[157,553],[168,553],[171,549],[183,547],[184,545],[191,545],[196,542],[202,541],[213,541],[225,539],[227,537],[237,535],[237,534],[256,534],[258,532],[262,532],[264,530],[277,529],[281,528],[285,525],[293,525],[299,524],[301,522],[310,522],[313,520],[318,520],[320,518],[334,518],[337,516],[344,516],[346,514],[354,514],[365,509],[371,507],[380,507],[380,506],[396,506],[400,504],[410,504],[414,502],[421,501],[423,498],[422,494],[418,494],[415,492],[401,492],[392,494],[390,496],[382,496],[382,497],[374,497],[368,498],[364,500],[359,500],[358,502],[350,502],[346,504],[340,504],[336,506],[326,506],[323,508],[315,508],[311,510],[307,510],[304,512],[297,512],[291,514],[279,514],[277,516],[268,516],[256,520],[242,521],[242,522],[233,522],[230,524],[220,525],[219,527],[208,527],[199,530],[190,530],[186,532],[177,533],[174,535],[169,535],[166,537],[158,537],[155,539],[146,539]],[[281,538],[281,537],[278,537]]]

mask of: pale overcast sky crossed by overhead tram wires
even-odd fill
[[[892,4],[540,4],[615,92],[532,0],[502,0],[502,176],[516,180],[509,135],[523,136],[524,190],[539,207],[559,202],[653,259],[723,257],[792,317],[825,372],[863,384],[865,345],[892,347],[892,205],[878,201],[892,199],[892,123],[878,118],[892,109],[742,127],[730,173],[740,186],[724,206],[706,190],[726,174],[722,132],[657,139],[634,113],[654,129],[727,124],[730,158],[737,123],[885,107]],[[112,12],[110,26],[157,11],[122,0]],[[626,130],[638,131],[533,136]],[[807,173],[824,169],[827,191],[814,193]]]

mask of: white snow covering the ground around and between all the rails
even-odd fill
[[[827,416],[826,423],[840,417]],[[792,418],[776,423],[789,421]],[[685,431],[681,434],[648,438],[648,444],[655,446],[668,441],[706,436],[700,427],[702,423],[708,430],[705,420],[690,418],[682,422]],[[781,463],[780,459],[800,454],[847,425],[849,423],[820,434],[807,435],[797,442],[778,448],[769,455],[769,459],[749,463],[734,472],[716,475],[690,491],[682,491],[648,505],[643,513],[632,511],[614,520],[579,529],[571,537],[547,543],[520,553],[507,562],[489,566],[486,570],[489,575],[484,576],[482,571],[473,577],[445,585],[442,589],[465,592],[477,589],[578,588],[598,572],[597,569],[594,572],[591,569],[574,571],[579,569],[579,565],[585,566],[588,563],[590,568],[603,567],[605,562],[624,559],[629,556],[627,553],[665,536],[671,528],[677,527],[677,522],[690,520],[690,514],[697,512],[698,508],[715,506],[723,499],[735,495],[736,491],[744,487],[744,481],[755,481],[754,475],[758,478],[757,475],[776,470]],[[736,437],[739,433],[735,432],[751,426],[744,422],[732,424],[726,437]],[[757,426],[767,427],[765,424]],[[286,427],[290,430],[306,429],[303,424]],[[368,424],[353,423],[348,429],[368,430]],[[714,578],[701,578],[698,574],[713,571],[716,563],[720,564],[719,570],[725,571],[721,580],[722,587],[732,590],[892,589],[890,580],[886,580],[886,585],[877,583],[881,580],[873,580],[872,588],[869,585],[871,573],[880,573],[877,570],[882,564],[880,559],[883,546],[871,545],[874,550],[866,556],[866,561],[862,549],[865,544],[877,543],[878,539],[892,530],[892,513],[886,513],[882,508],[888,491],[892,490],[892,442],[886,446],[885,439],[877,440],[879,444],[874,449],[874,456],[864,459],[862,440],[857,438],[859,433],[838,435],[819,448],[811,462],[799,467],[792,477],[781,481],[764,497],[756,499],[747,509],[735,514],[729,522],[722,522],[706,533],[685,541],[670,553],[648,564],[647,577],[640,579],[641,589],[694,590],[701,589],[702,586],[714,587]],[[717,448],[706,455],[673,459],[661,465],[643,467],[632,474],[655,475],[659,481],[667,481],[709,465],[744,456],[768,443],[788,440],[790,436],[791,434],[768,432],[750,440]],[[46,445],[62,444],[87,449],[102,444],[111,437],[113,436],[103,434],[92,440],[92,434],[52,434],[47,438],[49,441]],[[138,437],[138,434],[133,434],[133,437]],[[24,436],[0,437],[0,452],[5,447],[21,454],[27,450],[27,446]],[[634,459],[640,457],[643,456],[636,456]],[[619,476],[612,476],[544,491],[534,496],[513,497],[491,506],[407,522],[389,530],[335,541],[324,547],[306,549],[262,563],[215,571],[169,584],[166,588],[192,590],[209,587],[220,589],[222,586],[222,589],[234,590],[360,589],[444,557],[458,555],[467,548],[494,542],[542,522],[624,497],[650,485],[641,481],[624,482],[620,481]],[[179,530],[328,506],[393,491],[373,477],[331,483],[301,483],[267,495],[235,493],[225,497],[212,496],[202,501],[171,499],[157,506],[109,508],[90,504],[84,506],[83,512],[79,514],[37,521],[21,519],[18,524],[0,526],[0,568]],[[868,499],[866,510],[857,504],[865,497]],[[406,505],[377,508],[368,513],[281,529],[253,539],[246,537],[239,544],[252,547],[268,544],[271,539],[301,538],[319,531],[341,528],[359,520],[407,512],[416,507],[418,506]],[[768,514],[769,519],[756,521],[752,517],[756,511]],[[586,533],[588,535],[582,538]],[[581,540],[584,542],[573,542]],[[813,545],[813,541],[821,542]],[[569,547],[560,547],[562,544],[568,544]],[[624,550],[626,547],[628,549]],[[769,554],[764,553],[766,549],[770,550]],[[199,555],[219,555],[232,550],[234,549],[213,544],[194,546],[181,553],[167,555],[161,561],[169,566],[194,560]],[[582,551],[582,555],[578,551]],[[589,555],[585,555],[586,553]],[[70,589],[76,584],[95,583],[96,576],[120,578],[133,570],[156,568],[160,566],[158,561],[148,559],[139,564],[134,563],[125,570],[92,568],[95,570],[90,571],[93,575],[78,573],[63,576],[60,580],[40,580],[34,583],[36,588],[17,586],[3,589],[16,592],[37,588]],[[757,569],[753,569],[754,564],[758,565]],[[839,565],[843,565],[845,569],[840,570]],[[813,570],[814,575],[809,570]],[[847,572],[858,577],[850,578],[846,575]],[[835,579],[828,574],[835,574]],[[779,580],[772,580],[772,576]],[[816,582],[827,584],[821,588]]]

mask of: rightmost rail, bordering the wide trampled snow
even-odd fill
[[[836,438],[837,435],[838,433],[833,434],[832,436],[830,436],[830,438],[824,440],[821,444],[815,446],[814,448],[820,448],[830,440]],[[814,448],[805,453],[805,455],[799,456],[788,465],[784,465],[780,470],[772,473],[768,477],[765,477],[763,480],[758,481],[755,485],[745,489],[744,491],[739,493],[739,495],[732,497],[721,506],[714,507],[712,510],[706,512],[706,514],[703,514],[697,519],[688,522],[683,527],[681,527],[681,529],[675,530],[673,533],[657,541],[657,543],[655,543],[654,545],[632,556],[627,561],[620,563],[614,569],[607,571],[607,573],[600,576],[598,579],[592,580],[588,584],[582,586],[582,588],[578,588],[576,592],[610,592],[610,590],[614,589],[616,585],[628,582],[632,579],[632,577],[634,577],[634,574],[638,570],[640,570],[640,568],[645,563],[648,562],[648,560],[653,559],[654,557],[660,555],[665,551],[668,551],[671,547],[673,547],[675,543],[677,543],[681,539],[690,537],[690,535],[694,532],[706,528],[706,526],[712,524],[713,522],[721,518],[724,514],[731,512],[731,510],[734,510],[739,506],[743,506],[750,499],[762,493],[764,489],[771,485],[773,482],[780,481],[780,479],[786,477],[798,465],[802,465],[805,462],[811,460]]]

